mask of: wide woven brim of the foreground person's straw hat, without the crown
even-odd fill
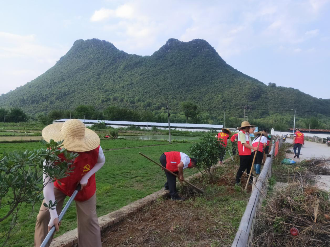
[[[100,145],[99,136],[93,130],[88,128],[85,128],[85,135],[83,138],[75,138],[74,136],[64,138],[60,132],[62,125],[63,123],[55,123],[46,126],[41,132],[44,140],[47,142],[49,142],[50,139],[53,139],[55,142],[64,140],[63,148],[73,152],[91,151]]]

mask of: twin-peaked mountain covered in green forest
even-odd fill
[[[235,117],[241,117],[244,108],[254,117],[274,113],[269,109],[329,116],[330,109],[330,99],[267,86],[243,74],[201,39],[169,39],[151,56],[128,54],[104,40],[77,40],[44,74],[0,96],[0,107],[20,107],[27,113],[73,110],[81,104],[100,110],[116,105],[156,111],[167,100],[174,111],[182,101],[195,101],[204,111],[220,114],[226,109]]]

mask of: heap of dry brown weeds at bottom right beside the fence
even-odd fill
[[[329,193],[291,183],[259,212],[252,246],[330,246]],[[293,236],[291,228],[299,234]]]

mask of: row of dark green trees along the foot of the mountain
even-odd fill
[[[199,109],[197,104],[185,101],[180,104],[179,109],[170,109],[171,123],[200,123],[200,124],[225,124],[226,127],[237,127],[243,118],[231,117],[232,111],[226,112],[226,118],[222,112]],[[266,115],[266,114],[265,114]],[[118,106],[109,106],[103,111],[89,105],[80,105],[73,111],[53,110],[49,114],[37,114],[28,117],[21,109],[10,110],[0,108],[0,122],[26,122],[37,120],[40,124],[50,124],[52,121],[63,118],[113,120],[113,121],[136,121],[136,122],[167,122],[167,109],[161,108],[157,111],[127,109]],[[251,124],[260,128],[275,128],[286,130],[293,126],[292,114],[274,113],[264,118],[249,117]],[[310,118],[296,118],[296,126],[299,128],[330,129],[330,118],[322,114]]]

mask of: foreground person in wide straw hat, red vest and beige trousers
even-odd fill
[[[42,131],[43,138],[49,142],[63,141],[63,147],[68,151],[77,152],[79,156],[72,160],[74,169],[70,176],[59,181],[50,181],[44,174],[44,201],[41,205],[34,234],[34,246],[40,246],[48,231],[55,225],[56,231],[60,226],[58,215],[62,210],[64,199],[71,196],[77,184],[81,184],[81,190],[75,197],[78,223],[79,247],[101,247],[101,233],[96,214],[96,184],[95,173],[104,165],[105,157],[100,147],[98,135],[85,128],[85,125],[77,120],[70,119],[64,123],[50,124]],[[64,159],[64,157],[60,157]],[[49,201],[57,200],[56,209],[48,209],[44,206]],[[48,242],[50,245],[51,239]]]

